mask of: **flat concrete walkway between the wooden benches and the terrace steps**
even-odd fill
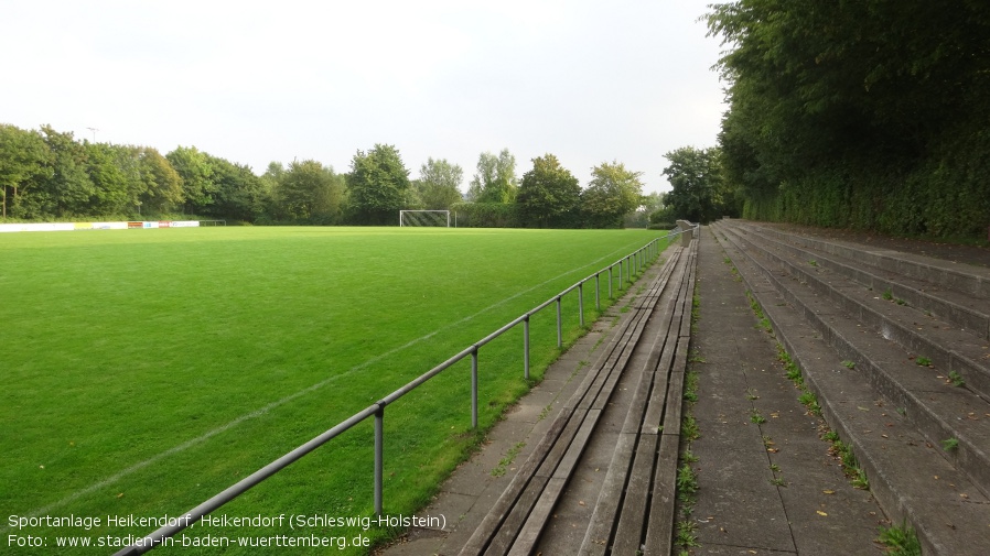
[[[797,401],[775,340],[707,227],[698,276],[693,554],[880,554],[873,538],[883,512],[819,439],[820,419]]]

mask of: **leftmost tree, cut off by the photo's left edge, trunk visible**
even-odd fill
[[[19,216],[19,190],[44,175],[50,160],[51,152],[40,133],[0,123],[0,218],[7,218],[8,214]]]

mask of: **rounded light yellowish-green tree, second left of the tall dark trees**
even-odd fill
[[[613,161],[595,166],[591,175],[591,183],[581,195],[588,224],[596,228],[622,227],[623,217],[643,203],[643,173]]]

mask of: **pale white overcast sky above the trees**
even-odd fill
[[[196,146],[261,174],[399,149],[519,177],[557,155],[585,186],[618,161],[667,190],[664,154],[713,146],[711,0],[0,0],[0,122]]]

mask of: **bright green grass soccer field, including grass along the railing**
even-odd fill
[[[110,516],[181,514],[660,235],[435,228],[3,235],[0,553],[111,554],[118,547],[53,547],[56,536],[112,543],[150,533],[157,525]],[[590,321],[593,287],[584,298]],[[566,341],[579,334],[577,305],[575,294],[564,298]],[[535,316],[535,378],[558,355],[556,340],[555,312]],[[482,428],[528,388],[521,344],[514,329],[480,352]],[[413,512],[476,444],[469,392],[470,359],[389,406],[387,514]],[[368,516],[372,470],[368,422],[218,513]],[[13,516],[33,521],[20,527]],[[101,523],[39,523],[45,516]],[[325,523],[302,528],[272,522],[185,535],[388,534]],[[10,535],[47,545],[11,546]],[[154,554],[218,552],[176,546]]]

